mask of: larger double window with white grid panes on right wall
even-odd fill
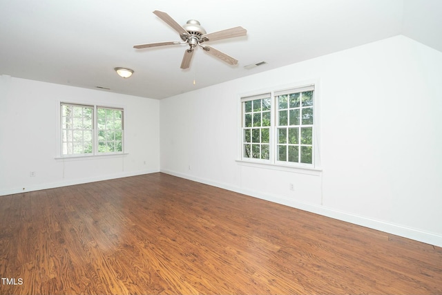
[[[242,160],[314,167],[314,101],[314,85],[242,97]]]

